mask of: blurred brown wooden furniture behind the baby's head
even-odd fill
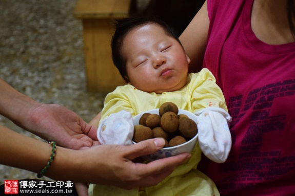
[[[78,0],[82,19],[87,90],[108,93],[124,81],[111,59],[113,20],[129,16],[131,0]]]

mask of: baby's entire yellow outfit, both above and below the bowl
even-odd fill
[[[192,113],[210,106],[222,107],[227,111],[221,89],[215,83],[211,72],[204,68],[199,73],[188,74],[186,85],[178,91],[156,94],[143,92],[130,84],[118,86],[106,96],[102,119],[122,110],[135,116],[147,110],[159,108],[165,102],[173,102],[180,109]],[[198,142],[191,154],[190,160],[176,167],[171,175],[156,186],[139,191],[92,185],[89,187],[89,195],[220,195],[215,184],[196,169],[202,154]]]

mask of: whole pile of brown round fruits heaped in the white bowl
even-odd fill
[[[144,113],[139,125],[134,125],[133,141],[137,143],[151,138],[164,138],[164,147],[189,141],[198,133],[198,127],[187,115],[178,112],[174,103],[166,102],[160,106],[159,114]]]

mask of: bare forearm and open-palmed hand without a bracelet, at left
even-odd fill
[[[1,78],[0,92],[0,114],[29,132],[72,149],[97,144],[96,128],[66,107],[38,103]]]

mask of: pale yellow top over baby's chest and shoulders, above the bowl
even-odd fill
[[[102,119],[110,114],[126,110],[132,116],[159,108],[165,102],[173,102],[180,109],[195,113],[205,107],[222,107],[227,111],[221,89],[211,72],[204,68],[196,74],[188,74],[186,85],[173,92],[147,93],[127,84],[118,86],[106,96]]]

